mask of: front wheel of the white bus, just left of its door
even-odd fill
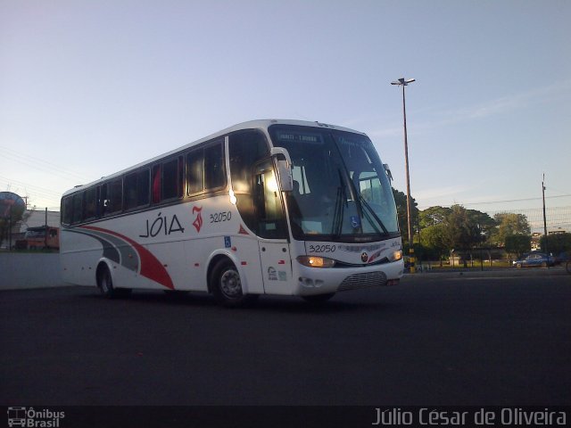
[[[220,259],[211,273],[211,292],[219,304],[237,308],[255,300],[257,294],[244,294],[240,273],[229,259]]]

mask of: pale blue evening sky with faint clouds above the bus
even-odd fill
[[[571,206],[568,0],[0,0],[0,191],[61,194],[251,119],[365,132],[420,209]]]

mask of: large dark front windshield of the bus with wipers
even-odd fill
[[[269,134],[292,159],[287,206],[296,239],[371,242],[400,235],[393,191],[367,136],[278,125]]]

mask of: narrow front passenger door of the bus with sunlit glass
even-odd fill
[[[264,290],[273,294],[291,294],[292,264],[288,232],[272,161],[256,164],[253,178]]]

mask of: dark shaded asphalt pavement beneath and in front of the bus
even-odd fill
[[[5,406],[571,405],[571,276],[405,276],[324,305],[0,292]]]

